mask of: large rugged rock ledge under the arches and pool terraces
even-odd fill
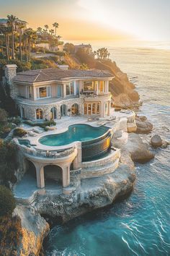
[[[55,221],[69,221],[91,210],[111,205],[127,195],[135,182],[135,171],[121,164],[112,173],[98,178],[81,180],[81,188],[71,195],[47,194],[35,202],[37,213]]]

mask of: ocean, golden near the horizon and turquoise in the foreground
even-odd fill
[[[128,74],[140,93],[139,114],[154,124],[151,135],[170,140],[170,51],[156,47],[107,46],[110,58]],[[150,140],[151,135],[143,135]],[[111,207],[55,226],[46,255],[170,255],[170,147],[137,164],[131,195]]]

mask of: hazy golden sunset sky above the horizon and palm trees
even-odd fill
[[[0,0],[0,17],[58,22],[63,40],[170,41],[170,0]]]

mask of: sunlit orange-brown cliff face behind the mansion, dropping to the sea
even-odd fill
[[[128,80],[115,61],[94,59],[84,53],[72,54],[65,57],[65,61],[71,68],[79,68],[81,64],[87,64],[90,69],[107,69],[115,78],[109,83],[109,91],[112,93],[114,105],[117,107],[133,108],[139,105],[139,95],[135,91],[135,85]]]

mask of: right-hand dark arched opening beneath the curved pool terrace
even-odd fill
[[[45,187],[50,185],[63,185],[63,170],[60,166],[49,165],[44,167]]]

